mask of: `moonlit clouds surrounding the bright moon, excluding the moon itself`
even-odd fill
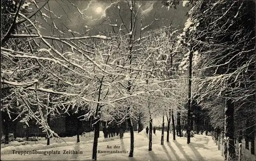
[[[56,8],[56,10],[59,10],[58,14],[63,15],[62,19],[65,18],[65,25],[70,25],[70,29],[72,31],[77,31],[79,33],[90,31],[90,34],[98,34],[106,29],[112,30],[109,23],[121,24],[122,19],[124,23],[129,26],[131,12],[126,1],[72,1],[72,3],[74,3],[82,12],[82,14],[80,14],[76,7],[67,3],[68,6],[64,8],[64,11],[71,13],[69,14],[69,18],[72,22],[68,21],[65,13],[63,13],[64,11],[60,11],[58,8]],[[155,18],[167,20],[172,19],[175,23],[177,23],[177,25],[179,22],[181,22],[181,24],[185,23],[184,16],[187,11],[185,11],[186,8],[183,8],[182,5],[179,13],[176,10],[168,11],[166,9],[162,9],[162,4],[159,1],[137,1],[135,11],[138,10],[139,6],[140,11],[138,16],[141,16],[143,26],[151,24]],[[101,12],[96,12],[98,7],[102,9]],[[119,16],[119,9],[122,19],[120,19]],[[74,12],[76,13],[74,14]],[[185,18],[185,20],[186,19],[187,18]],[[167,20],[160,20],[157,23],[153,23],[144,31],[157,30],[163,25],[168,25],[169,21]],[[63,20],[61,22],[63,22]],[[88,29],[85,26],[90,26],[93,29]]]

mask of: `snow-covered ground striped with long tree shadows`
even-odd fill
[[[152,151],[148,151],[148,136],[143,130],[140,133],[135,132],[134,157],[129,158],[130,134],[125,133],[123,140],[114,137],[114,140],[98,143],[100,151],[128,151],[128,153],[107,154],[98,153],[97,160],[223,160],[218,147],[213,143],[211,137],[196,135],[191,138],[191,143],[186,144],[186,138],[177,137],[173,141],[172,135],[170,142],[166,143],[166,132],[164,133],[164,145],[160,145],[161,132],[153,134]],[[117,145],[120,148],[114,148]],[[111,146],[112,149],[107,148]],[[65,147],[56,147],[40,151],[60,151],[60,154],[6,154],[1,156],[1,160],[91,160],[93,144],[77,144]],[[28,149],[33,150],[33,149]],[[63,154],[63,150],[82,151],[82,154]]]

